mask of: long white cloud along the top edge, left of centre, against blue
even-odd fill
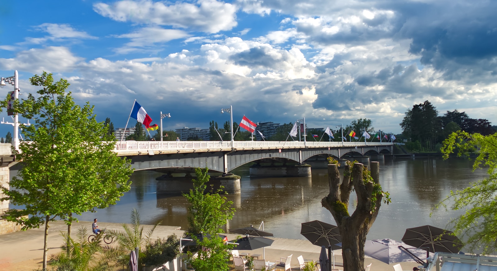
[[[98,14],[116,21],[170,25],[207,33],[230,30],[237,26],[236,6],[216,0],[174,4],[151,0],[120,0],[113,4],[95,3],[93,8]]]

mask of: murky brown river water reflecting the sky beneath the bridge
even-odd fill
[[[300,235],[302,222],[317,219],[336,224],[331,213],[321,206],[321,199],[329,193],[326,169],[312,169],[312,177],[291,178],[250,178],[248,167],[233,173],[242,176],[242,193],[227,195],[236,208],[228,228],[250,224],[258,227],[264,221],[264,230],[275,237],[305,239]],[[162,221],[163,225],[186,229],[188,203],[179,195],[156,193],[155,178],[161,175],[151,171],[133,173],[131,190],[116,205],[83,213],[79,219],[128,223],[132,208],[137,208],[144,224]],[[461,212],[436,209],[430,217],[433,206],[451,190],[461,190],[485,177],[485,170],[472,172],[472,161],[463,158],[386,157],[380,161],[380,184],[390,193],[392,203],[381,205],[367,238],[401,240],[406,228],[427,224],[446,228],[449,220]],[[356,203],[352,192],[350,213]]]

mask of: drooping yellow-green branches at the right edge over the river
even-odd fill
[[[470,252],[491,254],[497,250],[497,133],[489,136],[469,134],[464,131],[452,133],[443,142],[444,159],[457,151],[458,156],[469,156],[478,150],[473,170],[486,168],[488,177],[471,183],[461,191],[450,195],[437,207],[446,210],[465,210],[451,220],[454,233],[466,241]],[[450,204],[450,207],[446,204]]]

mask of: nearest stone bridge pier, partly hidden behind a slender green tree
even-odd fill
[[[157,180],[157,193],[158,194],[179,194],[188,193],[190,189],[193,188],[193,183],[191,180],[191,174],[186,174],[189,176],[172,176],[171,174],[165,174],[161,177],[156,178]],[[223,191],[229,194],[237,194],[241,192],[240,189],[240,176],[235,174],[227,174],[225,176],[211,176],[209,182],[207,183],[208,189],[211,185],[215,190],[223,186]]]

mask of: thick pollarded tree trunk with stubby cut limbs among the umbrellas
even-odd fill
[[[364,270],[366,235],[378,215],[383,199],[381,189],[373,191],[375,184],[379,186],[379,163],[371,162],[371,168],[372,180],[368,178],[367,168],[363,164],[354,163],[352,169],[345,166],[340,184],[338,165],[328,165],[330,194],[321,200],[321,204],[331,212],[340,229],[344,271]],[[348,201],[352,188],[357,195],[357,207],[350,215]]]

